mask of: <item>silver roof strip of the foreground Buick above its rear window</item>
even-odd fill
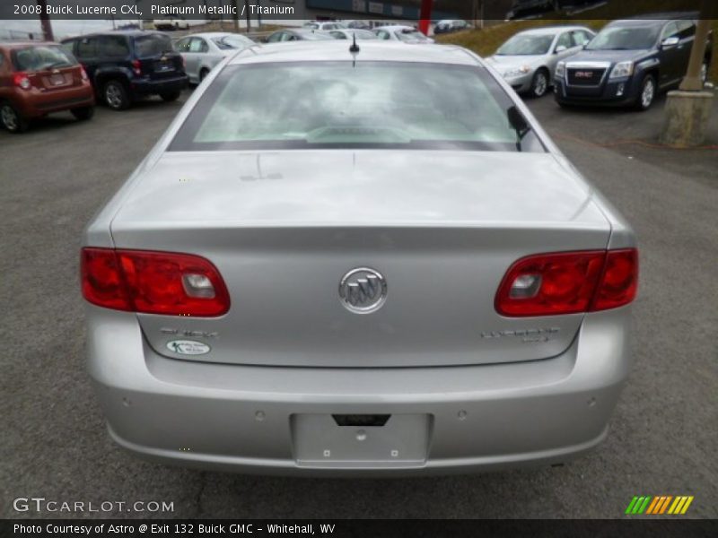
[[[232,65],[265,64],[270,62],[321,62],[351,60],[346,40],[293,41],[257,45],[245,48],[233,56]],[[405,43],[386,43],[364,40],[356,54],[357,61],[368,62],[425,62],[432,64],[478,65],[476,56],[454,45],[423,45],[416,47]]]

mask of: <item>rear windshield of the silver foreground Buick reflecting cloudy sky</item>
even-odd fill
[[[170,149],[544,151],[532,133],[517,144],[507,116],[512,105],[478,66],[234,65],[202,96]]]

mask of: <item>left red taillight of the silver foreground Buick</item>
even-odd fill
[[[230,298],[222,276],[200,256],[83,248],[83,296],[92,304],[165,316],[222,316]]]

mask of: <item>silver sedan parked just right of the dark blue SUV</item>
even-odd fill
[[[247,36],[214,31],[189,35],[177,41],[174,48],[184,58],[189,82],[199,83],[226,56],[254,45]]]

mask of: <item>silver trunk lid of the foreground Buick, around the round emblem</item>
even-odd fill
[[[198,165],[199,163],[199,165]],[[211,260],[218,318],[139,315],[163,355],[236,364],[406,367],[538,360],[582,314],[498,315],[522,256],[605,248],[591,190],[548,153],[166,153],[112,222],[116,246]],[[357,267],[387,283],[379,310],[340,302]],[[182,354],[180,340],[205,344]],[[180,349],[180,351],[177,351]]]

